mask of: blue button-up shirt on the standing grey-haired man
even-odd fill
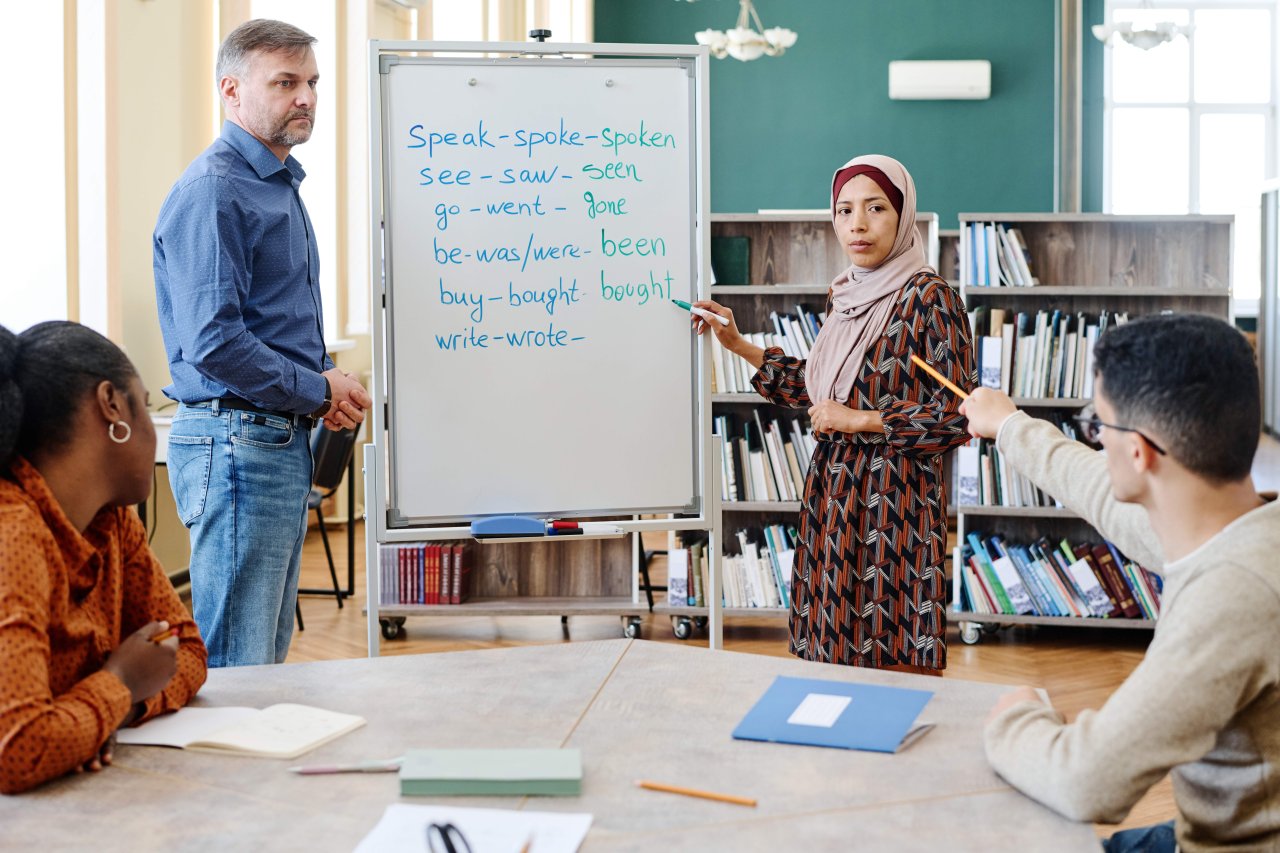
[[[324,402],[320,255],[298,195],[306,173],[239,126],[169,191],[152,237],[166,397],[233,394],[307,414]]]

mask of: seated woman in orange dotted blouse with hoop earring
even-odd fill
[[[0,793],[101,770],[116,729],[205,681],[205,644],[131,508],[155,446],[114,343],[76,323],[0,327]]]

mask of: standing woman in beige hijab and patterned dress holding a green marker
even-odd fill
[[[947,508],[942,455],[968,441],[957,400],[913,369],[918,355],[972,388],[964,304],[928,265],[915,184],[897,160],[867,155],[831,187],[832,223],[851,265],[831,283],[809,359],[748,342],[733,313],[704,323],[755,366],[771,402],[808,409],[809,462],[791,584],[791,652],[828,663],[940,675],[946,667]]]

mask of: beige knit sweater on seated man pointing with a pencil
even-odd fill
[[[1165,589],[1146,657],[1106,704],[1071,725],[1039,703],[1007,708],[987,726],[992,767],[1106,822],[1172,771],[1183,850],[1280,850],[1280,501],[1165,565],[1147,511],[1111,496],[1102,453],[1023,412],[997,447]]]

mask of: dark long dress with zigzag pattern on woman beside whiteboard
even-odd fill
[[[968,439],[966,421],[961,401],[915,369],[911,353],[974,387],[964,302],[937,275],[918,273],[904,286],[846,401],[879,411],[884,433],[818,435],[791,584],[791,652],[805,660],[947,665],[942,455]],[[804,377],[803,360],[769,348],[753,386],[805,409]]]

